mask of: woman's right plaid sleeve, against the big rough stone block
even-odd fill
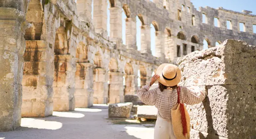
[[[193,87],[193,89],[189,87],[181,87],[181,97],[184,101],[183,103],[194,105],[204,100],[205,93],[202,92],[199,87]]]

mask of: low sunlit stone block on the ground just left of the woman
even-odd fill
[[[156,119],[157,108],[155,106],[149,106],[149,105],[138,106],[137,114],[138,114],[138,118]]]

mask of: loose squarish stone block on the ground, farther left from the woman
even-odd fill
[[[109,104],[109,118],[129,118],[132,103]]]

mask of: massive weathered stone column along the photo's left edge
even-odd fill
[[[0,4],[0,131],[20,126],[26,0]],[[25,5],[25,6],[24,6]],[[13,8],[10,8],[13,7]]]

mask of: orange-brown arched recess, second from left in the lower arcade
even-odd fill
[[[68,54],[68,41],[65,27],[61,26],[57,29],[55,35],[55,54]]]

